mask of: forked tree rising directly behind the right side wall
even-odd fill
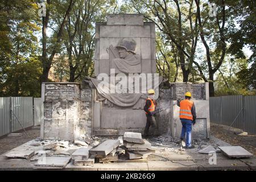
[[[131,1],[138,13],[155,22],[156,27],[166,35],[170,46],[175,46],[183,81],[188,81],[195,58],[198,24],[197,14],[193,13],[193,1]]]

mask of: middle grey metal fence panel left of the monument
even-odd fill
[[[22,129],[19,122],[24,128],[34,126],[32,97],[11,97],[11,132]]]

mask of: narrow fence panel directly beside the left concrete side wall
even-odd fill
[[[34,98],[34,126],[40,125],[43,120],[43,102],[41,98]]]

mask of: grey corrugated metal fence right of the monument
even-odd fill
[[[210,122],[256,134],[255,108],[256,96],[210,97]]]

